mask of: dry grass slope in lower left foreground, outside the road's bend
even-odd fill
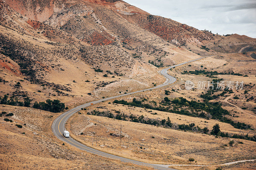
[[[1,169],[151,169],[62,145],[63,142],[52,134],[51,124],[57,115],[48,118],[51,112],[7,105],[0,105],[0,110],[14,113],[8,117],[13,123],[0,117]],[[15,124],[23,127],[17,128]]]

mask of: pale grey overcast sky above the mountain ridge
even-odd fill
[[[152,15],[212,33],[256,38],[256,0],[124,0]]]

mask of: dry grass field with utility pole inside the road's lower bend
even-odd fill
[[[98,146],[106,145],[104,149],[99,150],[142,162],[150,162],[154,159],[161,164],[189,164],[188,158],[194,157],[198,165],[209,165],[215,162],[225,163],[236,159],[249,159],[253,157],[252,153],[255,153],[254,142],[252,141],[241,140],[244,142],[243,145],[236,144],[234,147],[222,148],[220,146],[228,144],[228,138],[214,138],[214,136],[209,135],[176,131],[106,117],[76,114],[70,119],[70,123],[72,133],[84,133],[84,135],[73,136],[79,142],[91,146],[93,134],[94,142],[95,136],[97,136]],[[84,129],[91,123],[96,123],[96,125]],[[120,144],[120,138],[109,135],[109,133],[118,133],[120,124],[123,125],[122,133],[125,136],[122,138],[122,144]],[[152,136],[155,138],[153,139]],[[145,140],[142,141],[142,139]],[[236,140],[236,142],[238,141],[240,139]],[[140,149],[140,146],[146,149]],[[244,152],[245,150],[248,152]],[[243,154],[241,154],[242,152]],[[221,158],[217,155],[220,155]],[[165,162],[163,163],[162,160]]]

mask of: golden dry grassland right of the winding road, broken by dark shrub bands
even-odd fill
[[[245,57],[245,56],[244,56]],[[217,58],[217,59],[216,59]],[[203,59],[202,63],[191,63],[192,67],[194,64],[194,68],[198,65],[207,65],[208,68],[216,68],[220,67],[220,65],[213,65],[217,60],[223,61],[223,64],[232,64],[235,63],[233,60],[230,59],[230,55],[224,55],[224,60],[222,58],[218,59],[219,57],[211,57],[207,59]],[[241,56],[240,56],[241,59]],[[246,59],[246,57],[245,57]],[[215,61],[216,60],[216,61]],[[226,61],[225,61],[226,60]],[[228,60],[228,61],[227,61]],[[244,63],[246,64],[246,63]],[[253,65],[252,65],[253,66]],[[243,65],[239,67],[243,68]],[[239,68],[238,67],[238,68]],[[190,67],[189,67],[190,68]],[[214,68],[214,69],[215,69]],[[236,68],[236,69],[238,69]],[[184,81],[185,80],[193,80],[195,84],[198,81],[208,81],[210,80],[209,77],[205,77],[203,75],[187,75],[187,74],[180,74],[183,70],[187,70],[188,66],[180,66],[170,71],[171,75],[175,77],[179,77],[178,81],[172,84],[170,87],[155,89],[154,91],[147,91],[140,94],[135,94],[132,96],[123,97],[124,100],[132,101],[133,97],[138,99],[146,98],[149,101],[156,101],[160,102],[166,96],[164,95],[164,90],[172,90],[175,89],[175,92],[170,93],[168,96],[169,98],[175,97],[185,97],[188,100],[200,100],[202,98],[198,97],[201,92],[204,90],[193,90],[187,91],[184,90]],[[193,70],[193,68],[192,68]],[[210,69],[211,70],[211,69]],[[225,70],[225,68],[223,68]],[[223,70],[218,70],[221,72]],[[243,73],[244,70],[240,69],[240,73]],[[239,73],[239,71],[238,71]],[[244,74],[244,73],[243,73]],[[244,81],[244,84],[252,84],[256,83],[256,80],[253,76],[249,75],[249,77],[243,76],[233,76],[233,75],[217,75],[219,78],[224,78],[224,81]],[[254,96],[254,89],[249,91],[249,96]],[[244,90],[239,90],[234,94],[231,94],[230,98],[232,99],[232,95],[237,95],[238,93],[240,96],[244,96]],[[231,111],[232,114],[235,114],[239,117],[229,117],[234,121],[244,122],[252,125],[253,128],[256,127],[255,118],[252,116],[254,113],[250,110],[244,110],[244,112],[239,111],[239,107],[241,104],[238,105],[238,108],[234,106],[228,105],[225,103],[225,99],[228,97],[223,96],[217,101],[222,102],[223,108]],[[241,102],[246,103],[246,98],[239,99]],[[232,103],[232,100],[228,100]],[[152,162],[155,161],[156,163],[163,163],[163,164],[188,164],[188,158],[193,157],[197,161],[195,164],[207,164],[207,165],[216,165],[226,162],[231,162],[240,159],[255,159],[255,149],[254,145],[255,142],[246,141],[242,139],[233,139],[235,140],[236,145],[234,147],[221,147],[225,144],[228,145],[228,142],[231,138],[215,138],[212,135],[205,135],[205,134],[198,134],[195,132],[184,132],[184,131],[177,131],[172,129],[165,129],[161,127],[155,127],[146,124],[139,124],[127,121],[120,121],[114,120],[106,117],[98,117],[87,115],[87,112],[91,110],[99,110],[99,111],[111,111],[111,110],[118,110],[121,111],[121,114],[133,114],[135,116],[143,115],[148,118],[159,118],[159,119],[167,119],[170,117],[172,123],[177,124],[190,124],[195,123],[200,128],[208,127],[211,131],[212,126],[216,123],[220,124],[220,130],[222,132],[228,132],[231,134],[247,134],[250,130],[239,130],[231,126],[227,123],[222,123],[213,119],[205,120],[203,118],[198,117],[189,117],[185,115],[179,115],[174,113],[167,113],[157,110],[148,110],[143,108],[136,108],[136,107],[129,107],[121,104],[108,104],[109,101],[100,103],[97,105],[93,105],[87,107],[87,110],[80,110],[80,114],[75,114],[68,123],[68,128],[72,132],[72,135],[79,140],[82,141],[84,144],[92,145],[92,136],[94,136],[94,147],[96,146],[96,137],[97,137],[97,147],[102,150],[100,145],[106,145],[103,149],[105,152],[114,153],[119,156],[128,157],[135,160],[141,160],[145,162]],[[111,101],[110,101],[111,102]],[[112,103],[112,102],[111,102]],[[250,103],[251,108],[255,107],[255,103]],[[241,110],[241,109],[240,109]],[[149,112],[152,111],[152,112]],[[236,112],[235,112],[236,111]],[[111,111],[114,113],[114,111]],[[246,113],[250,114],[246,114]],[[157,113],[157,115],[152,115],[150,113]],[[205,122],[206,121],[206,122]],[[120,133],[120,125],[122,127],[122,133],[124,133],[124,138],[122,138],[122,144],[120,144],[120,137],[113,137],[110,133]],[[83,132],[83,135],[80,133]],[[249,135],[252,135],[254,132],[250,132]],[[155,138],[152,138],[155,137]],[[145,139],[142,141],[142,139]],[[238,144],[238,142],[243,141],[244,144]],[[142,147],[143,149],[140,149]],[[145,149],[144,149],[145,148]],[[246,163],[244,163],[246,164]],[[248,163],[250,164],[250,163]],[[236,166],[234,166],[236,167]],[[227,167],[234,168],[234,167]],[[239,166],[237,166],[238,168]],[[241,166],[240,166],[241,167]],[[193,169],[193,168],[192,168]]]

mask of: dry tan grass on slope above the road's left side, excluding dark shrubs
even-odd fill
[[[2,70],[0,77],[9,81],[2,84],[0,96],[4,96],[4,94],[7,93],[12,94],[12,92],[15,91],[15,88],[13,88],[14,85],[16,82],[20,81],[22,86],[20,91],[26,91],[27,95],[30,98],[33,98],[34,101],[39,102],[45,101],[46,99],[59,99],[71,108],[78,104],[101,99],[102,97],[119,95],[119,91],[121,91],[122,94],[126,92],[126,90],[128,90],[128,92],[137,91],[139,89],[153,87],[152,82],[158,81],[159,83],[163,83],[165,81],[165,78],[157,73],[158,69],[156,67],[150,65],[148,62],[133,59],[129,54],[126,54],[124,50],[117,49],[115,46],[88,48],[88,53],[94,53],[94,50],[100,50],[104,55],[100,56],[101,58],[99,61],[93,59],[84,61],[84,58],[78,53],[79,47],[77,46],[64,44],[54,46],[45,43],[47,40],[35,39],[34,37],[25,34],[21,35],[13,30],[5,29],[3,26],[0,26],[0,33],[12,39],[12,43],[20,42],[23,43],[24,46],[29,43],[36,45],[36,47],[29,46],[29,49],[27,49],[38,53],[38,58],[44,61],[36,66],[36,76],[38,76],[39,79],[41,77],[44,81],[66,86],[71,90],[70,92],[67,92],[59,89],[65,94],[68,94],[63,96],[62,94],[58,94],[52,86],[43,87],[39,84],[31,84],[30,81],[27,80],[20,81],[26,77],[23,74],[20,74],[20,67],[8,56],[0,54],[0,58],[3,59],[3,65],[2,62],[0,64]],[[9,44],[11,42],[9,42]],[[64,54],[62,51],[65,50],[68,50],[69,52]],[[123,56],[124,54],[125,56]],[[118,57],[113,57],[114,55],[117,55]],[[103,56],[108,57],[104,58]],[[108,60],[109,58],[113,58],[113,60]],[[11,62],[18,71],[14,72],[7,68],[5,65],[10,65],[7,60]],[[118,60],[122,60],[122,64],[118,63]],[[33,62],[37,63],[34,59]],[[93,66],[91,65],[92,62],[94,63]],[[98,66],[97,68],[103,69],[104,72],[95,72],[94,67],[96,68],[96,65]],[[116,65],[118,65],[118,67]],[[41,69],[41,66],[48,67],[48,69]],[[118,68],[119,73],[125,75],[117,76],[114,74],[115,68]],[[113,74],[108,74],[106,72],[107,70],[110,70]],[[17,72],[19,74],[17,74]],[[42,74],[44,74],[44,76],[42,76]],[[108,74],[108,77],[104,77],[104,74]],[[112,78],[113,75],[115,75],[115,78]],[[87,80],[90,82],[85,82]],[[110,83],[106,85],[106,87],[100,87],[103,86],[103,82],[109,83],[112,81],[116,82]],[[38,90],[41,92],[38,92]],[[88,95],[87,93],[92,93],[92,95]]]

